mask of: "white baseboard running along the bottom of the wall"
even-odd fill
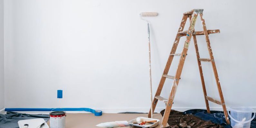
[[[256,110],[256,107],[250,107]],[[94,110],[102,110],[103,113],[121,113],[121,112],[142,112],[142,113],[148,113],[149,108],[92,108]],[[155,109],[156,113],[160,113],[165,109],[164,107],[157,107]],[[205,107],[174,107],[173,110],[184,112],[189,109],[206,109]],[[4,110],[4,109],[3,109]],[[210,110],[215,111],[223,111],[222,107],[210,107]],[[49,114],[48,111],[16,111],[19,113],[28,113],[28,114]],[[90,113],[86,111],[67,111],[67,113]]]

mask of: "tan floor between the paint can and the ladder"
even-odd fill
[[[112,121],[130,121],[140,116],[147,117],[147,114],[103,113],[102,116],[94,116],[91,113],[67,113],[66,128],[100,128],[95,125]],[[159,119],[161,123],[162,115],[160,113],[155,113],[153,117]],[[50,126],[49,122],[47,124]],[[160,123],[156,128],[160,128]],[[122,128],[129,128],[129,126]]]

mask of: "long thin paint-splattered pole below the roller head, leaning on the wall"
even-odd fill
[[[147,34],[148,34],[149,84],[150,84],[151,118],[153,118],[152,81],[151,81],[151,56],[150,56],[150,32],[149,32],[149,24],[148,24],[148,22],[147,22]]]

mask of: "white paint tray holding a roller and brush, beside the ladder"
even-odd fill
[[[156,127],[158,124],[159,124],[159,121],[158,119],[152,119],[152,118],[147,118],[147,117],[139,117],[142,119],[142,121],[152,121],[152,120],[156,120],[156,122],[154,124],[144,124],[144,125],[139,125],[139,124],[133,124],[133,122],[136,122],[136,118],[133,119],[133,120],[130,120],[128,121],[128,124],[130,125],[130,128],[133,128],[133,126],[136,126],[136,127],[142,127],[142,128],[154,128]]]

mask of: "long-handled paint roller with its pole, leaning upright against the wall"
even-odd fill
[[[141,12],[140,14],[140,19],[142,17],[149,17],[149,16],[157,16],[157,12]],[[145,20],[147,21],[147,20]],[[151,57],[150,57],[150,31],[149,31],[149,22],[147,21],[147,38],[148,38],[148,54],[149,54],[149,84],[150,84],[150,102],[151,102],[151,118],[153,118],[153,100],[152,100],[152,81],[151,81]]]

